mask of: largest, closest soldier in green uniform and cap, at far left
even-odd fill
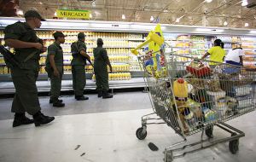
[[[15,84],[15,98],[12,104],[12,113],[15,113],[13,127],[32,123],[39,126],[55,119],[41,113],[36,85],[40,68],[39,55],[46,48],[39,43],[34,29],[39,28],[44,19],[34,10],[27,11],[25,19],[26,22],[18,21],[4,29],[5,43],[15,48],[15,59],[20,62],[19,67],[11,68]],[[28,119],[25,113],[31,114],[33,119]]]

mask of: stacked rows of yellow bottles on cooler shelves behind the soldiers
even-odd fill
[[[46,47],[49,44],[54,43],[54,38],[52,36],[54,31],[38,31],[38,38],[44,40],[44,45]],[[73,56],[71,54],[71,43],[77,41],[77,36],[79,32],[63,32],[67,37],[64,44],[61,44],[64,54],[64,74],[71,73],[71,61]],[[143,42],[143,33],[117,33],[117,32],[84,32],[85,43],[87,46],[87,53],[90,55],[91,61],[93,63],[93,49],[96,48],[96,39],[102,38],[104,41],[103,47],[108,51],[109,61],[113,66],[113,72],[110,73],[110,80],[128,80],[131,79],[131,72],[140,71],[138,68],[137,57],[131,55],[130,49],[135,48],[138,43]],[[1,44],[3,41],[3,31],[0,31]],[[41,55],[40,58],[40,72],[46,73],[44,70],[47,52]],[[0,57],[0,74],[9,74],[9,68],[6,67],[3,57]],[[85,66],[87,73],[93,73],[93,67],[88,64]]]

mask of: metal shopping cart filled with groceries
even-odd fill
[[[137,49],[150,41],[164,43],[154,35]],[[143,67],[154,111],[142,117],[142,127],[136,132],[137,138],[143,140],[147,136],[148,124],[167,124],[172,127],[183,140],[166,147],[166,162],[221,142],[229,142],[230,152],[236,153],[239,138],[245,134],[224,122],[255,109],[254,72],[245,67],[219,62],[217,64],[213,61],[176,55],[174,52],[166,53],[164,50],[161,55],[164,57],[164,64],[157,70],[146,66],[146,61],[154,59],[154,56],[140,55],[137,49],[133,49],[132,53],[137,55]],[[181,78],[186,86],[180,91],[188,91],[183,100],[177,99],[174,88],[175,82]],[[158,117],[155,118],[155,115]],[[230,133],[230,136],[213,138],[213,126]],[[188,136],[199,132],[201,137],[198,142],[185,145]],[[204,138],[204,134],[207,138]],[[192,149],[186,151],[187,148]]]

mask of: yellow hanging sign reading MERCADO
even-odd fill
[[[57,17],[59,18],[73,18],[73,19],[89,19],[90,11],[88,10],[69,10],[57,9]]]

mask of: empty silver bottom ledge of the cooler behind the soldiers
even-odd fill
[[[49,92],[49,81],[37,81],[38,92]],[[128,89],[128,88],[141,88],[145,87],[143,78],[131,78],[131,80],[117,80],[109,81],[109,89]],[[86,80],[84,90],[95,90],[96,83],[92,80]],[[72,80],[63,80],[61,83],[61,91],[73,90]],[[15,93],[15,86],[12,82],[0,83],[0,95]]]

